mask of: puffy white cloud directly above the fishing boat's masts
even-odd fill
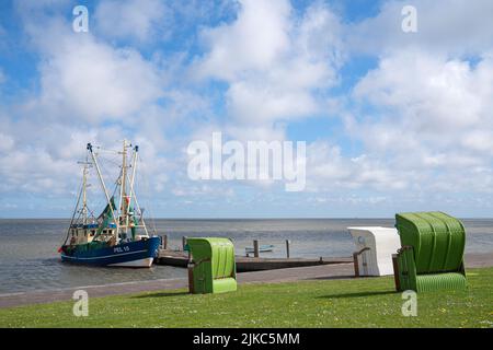
[[[159,67],[135,48],[112,46],[91,31],[74,33],[61,15],[71,7],[55,3],[18,3],[31,48],[39,56],[41,92],[26,104],[26,114],[45,122],[136,122],[130,117],[163,94]]]

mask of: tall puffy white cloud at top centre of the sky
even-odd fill
[[[297,18],[285,0],[241,1],[238,19],[204,33],[203,77],[229,84],[234,122],[270,127],[319,110],[316,92],[333,85],[342,62],[341,24],[322,4]]]

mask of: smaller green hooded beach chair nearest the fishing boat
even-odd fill
[[[191,253],[191,293],[222,293],[237,290],[234,246],[228,238],[186,238]]]

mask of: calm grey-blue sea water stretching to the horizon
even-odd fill
[[[493,252],[493,219],[463,220],[467,253]],[[168,234],[171,247],[182,236],[232,238],[237,254],[252,246],[274,244],[265,257],[284,257],[285,240],[291,241],[291,257],[349,256],[354,245],[347,226],[393,226],[391,219],[293,219],[293,220],[156,220],[148,222],[159,234]],[[67,220],[0,220],[0,294],[129,281],[172,279],[186,276],[181,268],[90,268],[61,264],[57,248],[64,240]]]

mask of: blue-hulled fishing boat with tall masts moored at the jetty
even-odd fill
[[[100,148],[98,148],[100,149]],[[149,235],[135,194],[139,148],[124,140],[122,165],[113,195],[110,195],[99,153],[91,143],[82,171],[82,185],[64,244],[58,249],[66,262],[91,266],[150,267],[157,257],[160,237]],[[88,174],[94,168],[104,194],[104,209],[99,217],[88,206]],[[116,197],[116,199],[115,199]],[[118,203],[116,205],[116,200]]]

